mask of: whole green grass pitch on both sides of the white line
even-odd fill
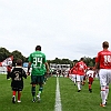
[[[31,97],[30,77],[24,79],[24,89],[21,95],[21,103],[11,102],[12,91],[10,88],[11,80],[0,74],[0,111],[54,111],[57,78],[48,79],[43,87],[41,102],[33,103]],[[68,78],[59,78],[62,111],[111,111],[111,92],[105,108],[101,108],[99,80],[93,82],[93,92],[88,91],[88,83],[82,87],[81,92],[77,92],[77,85]],[[38,85],[37,85],[38,91]]]

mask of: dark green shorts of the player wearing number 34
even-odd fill
[[[31,74],[31,84],[41,84],[44,81],[44,75],[32,75]]]

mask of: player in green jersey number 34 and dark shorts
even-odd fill
[[[36,47],[36,51],[32,52],[29,57],[29,65],[28,65],[28,74],[30,74],[30,67],[32,64],[31,70],[31,93],[32,93],[32,102],[36,102],[36,85],[39,84],[38,91],[38,101],[40,101],[40,95],[43,90],[43,81],[44,81],[44,72],[47,69],[47,73],[49,73],[49,65],[46,60],[46,54],[41,52],[41,46]],[[46,69],[44,69],[46,65]]]

